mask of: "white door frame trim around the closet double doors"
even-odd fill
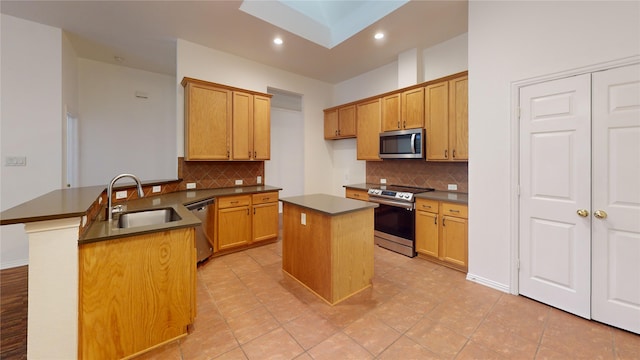
[[[640,63],[640,55],[631,56],[628,58],[603,62],[599,64],[589,65],[581,68],[561,71],[557,73],[537,76],[529,79],[518,80],[511,83],[511,179],[509,186],[511,208],[510,218],[510,235],[511,235],[511,273],[509,289],[510,293],[519,294],[518,283],[518,261],[519,261],[519,244],[520,244],[520,228],[519,228],[519,184],[520,184],[520,119],[519,119],[519,106],[520,106],[520,88],[542,83],[551,80],[557,80],[565,77],[582,75],[597,71],[603,71],[621,66],[627,66]]]

